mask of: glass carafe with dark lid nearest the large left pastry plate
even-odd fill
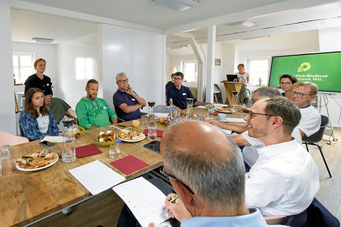
[[[62,123],[64,125],[64,139],[62,161],[73,162],[76,159],[75,136],[73,135],[73,118],[64,118]]]

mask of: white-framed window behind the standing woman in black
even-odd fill
[[[13,52],[13,73],[16,83],[24,83],[27,77],[34,74],[34,53]]]

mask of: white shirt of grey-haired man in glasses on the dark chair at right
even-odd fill
[[[299,121],[298,128],[306,136],[311,136],[320,129],[321,115],[310,104],[305,107],[300,107],[299,110],[301,112],[301,120]]]

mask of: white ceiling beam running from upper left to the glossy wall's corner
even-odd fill
[[[135,28],[135,29],[140,29],[140,30],[145,30],[145,31],[163,33],[163,29],[153,28],[153,27],[146,26],[146,25],[139,25],[139,24],[132,23],[132,22],[115,20],[115,19],[110,19],[110,18],[100,17],[100,16],[94,16],[94,15],[79,13],[79,12],[70,11],[70,10],[63,10],[63,9],[59,9],[55,7],[50,7],[50,6],[20,1],[20,0],[11,0],[10,2],[11,2],[11,7],[14,9],[18,9],[18,10],[26,10],[30,12],[43,13],[43,14],[49,14],[49,15],[58,15],[58,16],[63,16],[67,18],[81,19],[81,20],[95,22],[95,23],[105,23],[108,25],[117,25],[121,27]]]

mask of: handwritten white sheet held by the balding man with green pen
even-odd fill
[[[151,222],[157,226],[171,217],[166,209],[161,210],[166,196],[143,177],[117,185],[113,190],[127,204],[142,227],[147,227]]]

